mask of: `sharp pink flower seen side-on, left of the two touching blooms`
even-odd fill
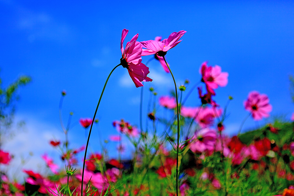
[[[147,77],[149,73],[149,68],[141,63],[141,53],[142,46],[140,42],[137,41],[138,34],[133,36],[131,41],[127,42],[126,48],[123,48],[123,41],[125,40],[128,34],[128,30],[123,29],[121,33],[121,63],[124,68],[128,69],[128,73],[131,76],[136,87],[143,86],[141,82],[152,81],[151,78]]]

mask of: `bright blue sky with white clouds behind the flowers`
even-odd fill
[[[237,132],[247,114],[243,101],[250,91],[269,96],[271,116],[282,114],[289,120],[294,112],[288,80],[289,74],[294,74],[293,1],[2,0],[0,13],[3,84],[21,74],[33,79],[20,90],[16,113],[17,119],[26,120],[26,128],[4,148],[24,156],[34,151],[31,165],[44,151],[57,155],[48,141],[52,135],[64,138],[58,116],[62,90],[68,93],[64,121],[70,111],[74,112],[73,123],[81,117],[92,118],[106,77],[120,62],[124,28],[129,29],[126,41],[136,33],[138,41],[144,41],[187,31],[183,41],[166,55],[178,84],[186,78],[191,84],[199,81],[203,61],[229,73],[228,85],[217,89],[215,100],[224,105],[228,95],[234,97],[229,106],[231,115],[225,122],[225,132],[230,135]],[[143,57],[143,63],[149,58]],[[168,94],[173,89],[171,76],[157,61],[148,66],[148,76],[154,81],[146,87],[154,86],[159,96]],[[148,95],[147,88],[144,95]],[[98,110],[103,139],[117,134],[111,125],[113,120],[124,118],[139,124],[139,96],[140,89],[132,83],[127,70],[115,70]],[[144,97],[145,106],[147,99]],[[186,105],[198,104],[195,91]],[[253,127],[254,121],[247,120],[244,128]],[[70,133],[72,144],[78,147],[86,143],[84,135],[83,128],[75,126]],[[99,149],[97,137],[96,131],[91,136],[94,151]],[[115,145],[110,145],[109,150],[115,151]]]

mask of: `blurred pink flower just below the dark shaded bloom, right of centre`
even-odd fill
[[[206,128],[213,125],[214,119],[220,116],[222,113],[221,109],[218,108],[201,108],[195,121],[201,128]]]

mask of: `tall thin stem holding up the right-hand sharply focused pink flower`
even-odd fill
[[[168,70],[171,72],[171,68],[169,68],[164,56],[163,60],[166,63],[166,66],[168,67]],[[173,73],[171,72],[171,76],[173,77]],[[179,172],[179,139],[180,139],[180,120],[179,120],[179,104],[178,104],[178,91],[177,91],[177,84],[176,80],[173,77],[173,83],[175,83],[175,89],[176,89],[176,101],[177,101],[177,120],[178,120],[178,137],[177,137],[177,166],[176,166],[176,195],[178,196],[178,172]]]

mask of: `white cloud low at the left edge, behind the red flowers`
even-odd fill
[[[55,150],[49,145],[49,141],[52,138],[61,139],[64,136],[55,126],[35,120],[32,117],[22,118],[17,116],[16,122],[18,119],[25,119],[26,124],[23,130],[17,130],[18,132],[13,138],[4,142],[3,150],[9,152],[14,158],[9,166],[3,165],[1,169],[4,171],[7,169],[9,179],[23,180],[26,176],[22,172],[24,168],[35,172],[45,172],[45,162],[40,156],[45,152],[51,156]],[[26,160],[24,165],[22,164],[23,160]]]

